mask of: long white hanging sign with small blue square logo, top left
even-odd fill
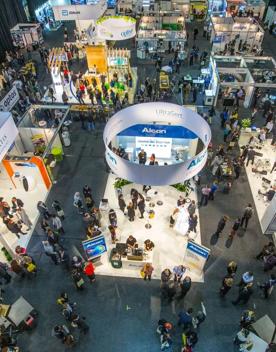
[[[97,20],[107,9],[106,1],[93,5],[53,6],[56,21]]]

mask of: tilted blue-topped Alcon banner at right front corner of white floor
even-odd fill
[[[209,257],[210,249],[193,241],[187,242],[184,263],[191,270],[199,274],[203,272],[204,265]]]

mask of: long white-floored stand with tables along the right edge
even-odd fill
[[[276,231],[276,195],[270,194],[276,190],[276,170],[271,172],[275,162],[276,147],[271,145],[271,139],[260,143],[260,130],[242,129],[239,139],[240,149],[249,143],[255,150],[254,163],[245,164],[245,169],[255,202],[262,233],[273,234]],[[269,193],[268,193],[269,192]]]

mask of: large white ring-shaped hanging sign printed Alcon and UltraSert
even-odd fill
[[[179,128],[183,128],[186,131],[190,131],[196,138],[199,138],[204,147],[199,154],[185,162],[163,166],[136,164],[121,158],[108,147],[116,136],[128,129],[136,128],[136,126],[140,126],[139,131],[142,133],[142,135],[138,136],[133,134],[137,138],[142,136],[144,136],[144,139],[151,138],[145,136],[142,132],[144,131],[146,134],[153,133],[152,138],[160,141],[168,138],[167,131],[170,128],[172,130],[176,128],[176,131]],[[107,122],[103,137],[106,148],[106,161],[117,176],[139,184],[161,186],[183,182],[198,174],[207,160],[207,148],[211,141],[211,130],[208,123],[194,111],[180,105],[155,102],[133,105],[117,112]],[[158,142],[156,140],[154,141],[155,145]],[[162,144],[162,148],[166,149],[165,146],[169,145],[168,142],[166,140],[166,143]],[[139,143],[142,143],[141,140],[139,140]]]

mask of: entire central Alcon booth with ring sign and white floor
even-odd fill
[[[176,265],[184,265],[185,275],[202,282],[209,249],[201,245],[199,222],[195,231],[189,231],[187,209],[191,201],[198,203],[192,178],[206,162],[211,140],[207,122],[180,105],[144,103],[111,117],[103,138],[112,173],[99,206],[101,233],[83,242],[85,255],[97,259],[97,273],[140,277],[140,270],[150,263],[154,267],[153,278],[160,279],[165,268],[172,270]],[[193,144],[197,147],[187,151],[186,146]],[[146,156],[139,163],[134,155],[139,159],[142,150]],[[175,157],[176,153],[182,155],[181,160]],[[145,199],[145,213],[141,217],[138,209],[134,209],[134,219],[129,221],[118,208],[118,196],[123,195],[129,205],[133,192]],[[117,214],[116,241],[108,229],[111,209]],[[196,215],[199,217],[197,210]],[[130,235],[135,238],[132,247],[127,245]]]

